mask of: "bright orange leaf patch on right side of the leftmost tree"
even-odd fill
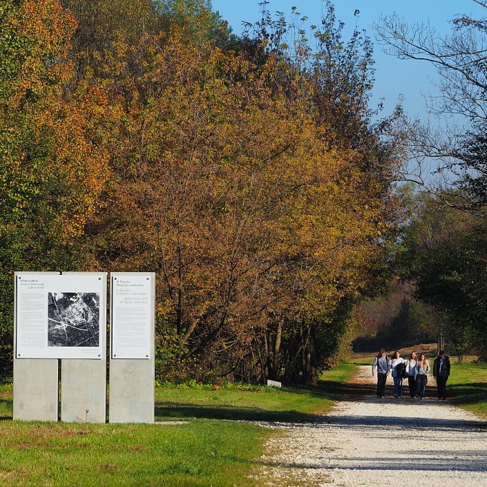
[[[50,144],[48,160],[41,162],[42,172],[35,176],[48,187],[64,188],[56,191],[62,196],[52,205],[59,206],[57,225],[67,243],[82,235],[86,222],[93,218],[110,175],[108,152],[90,137],[97,121],[106,115],[104,104],[99,93],[68,100],[50,96],[44,111],[32,117],[35,137]]]

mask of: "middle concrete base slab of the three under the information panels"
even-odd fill
[[[106,422],[106,360],[61,361],[61,421]]]

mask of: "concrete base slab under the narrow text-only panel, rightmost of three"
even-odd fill
[[[110,423],[154,422],[154,359],[110,361]]]

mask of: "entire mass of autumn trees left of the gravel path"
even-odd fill
[[[326,4],[0,1],[0,340],[15,271],[155,271],[161,380],[316,383],[401,220],[370,40]]]

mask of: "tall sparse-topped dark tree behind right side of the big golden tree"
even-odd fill
[[[356,14],[358,13],[357,11]],[[371,210],[369,216],[361,213],[362,218],[365,218],[367,222],[365,225],[371,224],[376,231],[382,234],[381,243],[379,243],[381,238],[378,240],[372,238],[378,244],[374,247],[378,252],[374,258],[370,258],[368,261],[371,264],[370,269],[367,270],[366,266],[360,267],[359,262],[350,265],[350,269],[358,271],[358,281],[361,280],[361,277],[365,278],[367,272],[372,271],[372,267],[376,266],[372,271],[374,277],[370,276],[367,280],[369,284],[367,289],[362,287],[358,292],[353,287],[338,285],[343,290],[343,294],[335,299],[328,299],[327,303],[320,303],[320,306],[314,310],[314,314],[310,314],[306,320],[300,321],[304,330],[301,325],[295,326],[294,319],[289,321],[294,323],[296,332],[289,336],[287,343],[291,343],[292,347],[298,343],[296,345],[300,350],[298,356],[300,358],[304,356],[305,360],[304,365],[300,364],[298,368],[296,368],[298,356],[287,362],[287,365],[292,364],[287,366],[287,376],[289,379],[295,378],[296,374],[305,370],[306,381],[312,382],[315,380],[312,377],[316,375],[314,373],[315,365],[309,361],[316,361],[316,365],[323,367],[329,363],[327,357],[336,356],[334,350],[339,347],[337,344],[341,341],[340,337],[348,336],[347,339],[350,340],[347,330],[350,330],[350,309],[355,300],[359,296],[376,294],[381,283],[384,282],[385,267],[381,266],[379,262],[384,262],[383,259],[387,253],[385,252],[387,247],[385,242],[392,235],[391,230],[394,225],[391,224],[397,218],[397,215],[394,214],[397,204],[391,192],[397,150],[394,144],[390,144],[390,140],[383,143],[385,140],[383,127],[390,124],[392,120],[384,120],[383,124],[376,126],[370,121],[373,111],[369,106],[369,98],[374,73],[370,39],[363,32],[355,30],[350,40],[345,41],[342,38],[344,25],[336,21],[331,2],[326,3],[325,15],[321,19],[319,28],[312,26],[311,32],[306,32],[303,28],[305,21],[307,21],[307,17],[301,15],[296,8],[293,8],[291,21],[287,21],[284,16],[274,19],[271,13],[264,9],[262,18],[254,26],[248,25],[247,49],[251,52],[253,59],[257,59],[261,63],[271,55],[286,60],[287,70],[283,70],[280,75],[281,86],[287,90],[289,99],[296,96],[312,97],[314,124],[321,127],[319,138],[323,144],[323,151],[340,148],[343,151],[349,151],[351,156],[349,164],[341,167],[338,176],[344,182],[342,191],[345,191],[346,196],[340,202],[335,199],[335,202],[345,209],[353,204],[354,198],[357,200],[364,198],[364,206]],[[313,37],[312,41],[307,38],[309,33]],[[256,39],[256,41],[252,42],[252,39]],[[352,188],[353,195],[347,193]],[[353,218],[350,220],[350,224],[348,228],[341,227],[338,231],[343,232],[341,236],[349,235],[348,231],[353,233],[353,225],[358,225],[356,236],[363,236],[362,231],[367,233],[365,225],[361,226],[360,222]],[[350,247],[347,247],[346,251],[352,251],[354,245],[356,245],[355,249],[361,248],[362,251],[367,251],[365,250],[367,245],[361,247],[359,240],[353,239],[350,240]],[[383,254],[380,254],[379,249],[383,251]],[[356,255],[359,254],[360,252],[357,252]],[[334,258],[337,255],[335,254],[331,260],[335,262]],[[333,272],[330,274],[330,278],[333,276],[334,279],[340,281],[342,272],[343,270],[338,268],[336,274]],[[321,292],[323,292],[323,288]],[[338,319],[338,316],[341,316],[341,319]],[[348,324],[345,325],[345,323]],[[280,325],[276,326],[275,337],[284,347],[287,346],[283,342]],[[321,347],[321,352],[315,353],[314,351],[318,350],[315,343],[318,342],[332,345],[327,352],[325,352],[326,347]],[[286,361],[287,359],[280,363],[278,370],[286,369]],[[271,363],[277,362],[273,359]],[[270,370],[274,375],[278,373],[275,367],[274,370],[272,368]]]

